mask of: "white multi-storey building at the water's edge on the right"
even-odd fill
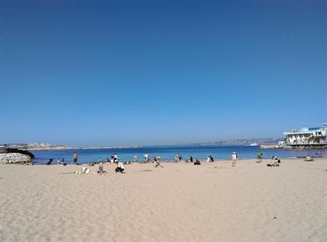
[[[327,123],[324,127],[302,127],[299,130],[284,132],[287,145],[326,144]]]

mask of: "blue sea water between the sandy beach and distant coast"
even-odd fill
[[[173,160],[177,153],[183,159],[188,159],[190,155],[194,159],[205,159],[212,155],[215,161],[231,159],[232,152],[237,152],[239,159],[256,159],[256,152],[261,150],[265,159],[270,159],[273,155],[279,158],[304,157],[307,154],[315,157],[317,152],[327,157],[327,149],[259,149],[251,146],[160,146],[160,147],[140,147],[140,148],[115,148],[115,149],[71,149],[55,151],[33,151],[35,164],[45,164],[49,159],[53,159],[56,164],[57,159],[65,159],[68,164],[73,163],[73,154],[78,154],[78,163],[88,163],[102,159],[106,161],[111,154],[117,153],[120,161],[133,161],[137,155],[137,161],[143,161],[143,155],[147,152],[149,159],[160,156],[161,161]]]

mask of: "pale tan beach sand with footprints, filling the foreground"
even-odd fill
[[[268,162],[1,165],[0,241],[327,241],[327,159]]]

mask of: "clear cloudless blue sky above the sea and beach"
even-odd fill
[[[0,143],[281,138],[327,122],[327,1],[0,0]]]

